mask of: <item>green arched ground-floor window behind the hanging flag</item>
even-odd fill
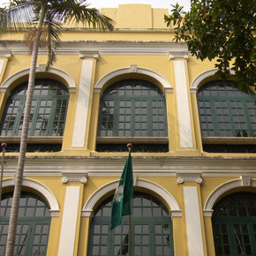
[[[88,255],[129,255],[128,217],[122,224],[109,230],[111,200],[105,200],[94,212],[90,228]],[[132,199],[132,255],[174,255],[172,223],[162,202],[141,192]]]

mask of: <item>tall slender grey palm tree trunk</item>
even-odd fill
[[[35,69],[36,69],[39,41],[41,37],[41,27],[42,27],[44,15],[45,15],[45,11],[44,11],[44,8],[42,8],[41,19],[38,23],[38,27],[36,30],[34,45],[33,45],[33,50],[31,55],[31,66],[30,66],[27,92],[26,92],[26,106],[24,111],[24,119],[23,119],[21,139],[20,139],[19,159],[18,159],[18,165],[16,170],[16,176],[15,176],[15,186],[14,186],[14,192],[13,192],[12,205],[11,205],[11,216],[10,216],[10,222],[9,222],[5,256],[13,256],[13,253],[14,253],[15,237],[16,237],[18,215],[19,215],[19,198],[20,198],[21,184],[23,179],[23,170],[24,170],[25,157],[26,157],[28,125],[30,120],[32,97],[34,93]]]

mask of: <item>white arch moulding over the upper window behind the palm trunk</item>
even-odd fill
[[[41,71],[39,70],[39,68],[36,68],[35,72],[41,72]],[[46,73],[55,74],[59,78],[64,79],[66,81],[66,83],[68,84],[69,91],[70,92],[75,92],[76,91],[75,81],[66,72],[51,67],[51,68],[49,68],[49,71],[46,72]],[[28,74],[29,74],[29,69],[17,72],[15,74],[11,75],[11,77],[9,77],[8,79],[5,79],[0,88],[3,88],[3,89],[9,88],[14,81],[16,81],[17,79],[22,78],[24,76],[27,76]]]

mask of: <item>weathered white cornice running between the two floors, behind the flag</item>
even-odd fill
[[[13,175],[17,157],[5,155],[4,174]],[[25,174],[30,176],[59,176],[79,174],[85,177],[117,176],[124,168],[126,156],[119,157],[26,157]],[[246,174],[255,177],[255,157],[209,158],[209,157],[136,157],[132,156],[133,172],[138,176],[183,177],[239,177]],[[80,177],[82,177],[80,176]],[[186,181],[184,179],[184,181]],[[199,182],[196,179],[194,182]]]

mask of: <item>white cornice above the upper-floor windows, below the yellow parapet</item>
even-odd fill
[[[29,54],[23,41],[0,41],[0,47],[13,55]],[[47,49],[39,49],[39,54],[47,54]],[[188,56],[184,42],[173,41],[61,41],[56,49],[57,55],[78,55],[79,57],[97,55],[163,55]]]

